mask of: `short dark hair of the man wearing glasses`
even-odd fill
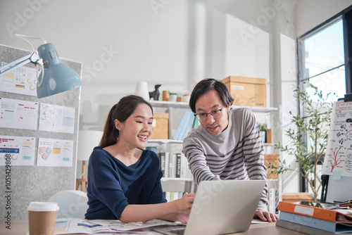
[[[218,92],[225,107],[232,105],[234,102],[229,89],[227,89],[223,82],[213,78],[207,78],[205,80],[201,80],[201,82],[198,82],[191,93],[191,97],[189,98],[189,108],[191,108],[193,113],[196,113],[196,101],[199,99],[199,96],[208,93],[211,89]]]

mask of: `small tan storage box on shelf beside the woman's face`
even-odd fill
[[[153,134],[149,139],[169,139],[169,114],[153,114]]]

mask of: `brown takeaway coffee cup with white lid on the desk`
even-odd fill
[[[58,203],[33,201],[27,209],[30,235],[54,234]]]

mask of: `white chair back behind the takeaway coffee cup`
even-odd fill
[[[84,219],[88,209],[87,193],[76,190],[65,190],[55,193],[49,201],[58,203],[58,219],[76,217]]]

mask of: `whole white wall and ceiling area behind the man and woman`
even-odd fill
[[[264,77],[268,106],[284,107],[284,116],[295,107],[287,94],[296,83],[296,36],[351,3],[0,0],[0,44],[30,49],[13,34],[42,37],[61,57],[82,62],[84,128],[101,128],[109,108],[134,93],[139,80],[148,82],[149,91],[163,84],[161,90],[185,93],[205,77]],[[284,191],[298,191],[298,177],[290,176],[286,185]]]

